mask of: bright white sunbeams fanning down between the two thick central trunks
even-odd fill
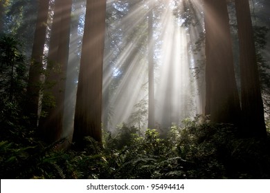
[[[197,79],[192,75],[195,59],[190,51],[190,43],[195,40],[185,26],[183,19],[177,17],[177,7],[187,6],[184,1],[134,1],[126,2],[126,10],[114,1],[109,1],[107,10],[111,14],[122,12],[115,21],[107,21],[107,41],[105,49],[105,68],[113,68],[103,77],[103,92],[109,92],[106,112],[109,119],[106,128],[114,130],[120,123],[129,123],[140,101],[147,100],[148,77],[145,50],[154,49],[154,105],[156,127],[163,130],[172,123],[180,124],[182,119],[192,118],[201,113]],[[198,18],[201,4],[188,1]],[[123,6],[123,5],[122,5]],[[128,11],[127,11],[128,10]],[[147,16],[152,11],[152,37],[147,37]],[[196,19],[193,19],[195,22]],[[111,22],[111,23],[109,23]],[[200,21],[198,21],[199,23]],[[202,26],[199,23],[199,26]],[[194,32],[197,32],[194,30]],[[150,41],[147,39],[150,38]],[[149,42],[149,43],[147,43]],[[115,73],[117,72],[117,73]],[[147,109],[147,103],[141,108]],[[147,121],[147,111],[141,119]],[[140,121],[138,121],[141,123]],[[147,123],[143,123],[144,129]],[[138,126],[138,125],[136,125]]]

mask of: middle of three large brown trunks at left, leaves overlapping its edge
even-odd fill
[[[53,96],[55,105],[53,108],[42,106],[48,113],[41,120],[41,128],[46,141],[53,142],[60,139],[62,134],[62,122],[64,114],[64,92],[66,68],[69,59],[69,35],[71,24],[71,0],[55,1],[53,26],[48,53],[48,77],[47,83],[54,83],[52,88],[44,91]]]

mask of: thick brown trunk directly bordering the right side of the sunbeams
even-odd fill
[[[240,101],[226,0],[204,0],[206,28],[206,113],[213,123],[239,125]]]

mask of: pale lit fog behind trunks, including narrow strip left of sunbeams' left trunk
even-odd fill
[[[82,5],[73,6],[81,7],[76,14],[83,26]],[[196,74],[196,70],[203,68],[197,66],[197,62],[204,51],[196,53],[201,54],[198,57],[194,56],[193,49],[204,21],[200,19],[201,5],[192,5],[198,14],[195,27],[200,32],[184,25],[185,19],[175,13],[177,6],[181,8],[181,5],[174,1],[134,1],[131,5],[114,1],[107,3],[107,14],[113,17],[107,19],[103,65],[102,125],[105,131],[114,132],[123,123],[136,126],[141,132],[146,130],[149,57],[153,58],[154,65],[155,126],[162,132],[172,124],[179,125],[183,119],[192,119],[202,113],[201,92],[205,85],[203,75]],[[150,14],[152,26],[148,26]],[[147,33],[148,28],[152,28],[152,34]],[[67,76],[66,84],[66,105],[70,111],[75,105],[76,70],[79,66],[75,66],[74,61],[80,59],[77,54],[83,33],[80,30],[83,29],[71,34],[68,71],[71,75]],[[152,56],[150,49],[153,50]],[[72,125],[71,116],[73,114],[66,115],[66,125]]]

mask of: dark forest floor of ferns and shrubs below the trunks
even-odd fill
[[[1,179],[270,179],[269,133],[240,138],[232,125],[187,119],[163,137],[123,125],[103,132],[102,147],[86,137],[83,149],[58,150],[62,140],[42,142],[17,116],[1,119]]]

